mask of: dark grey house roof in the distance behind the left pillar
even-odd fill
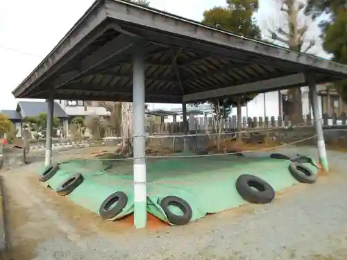
[[[37,116],[40,113],[46,113],[48,110],[48,105],[46,102],[32,102],[32,101],[19,101],[17,105],[17,112],[22,114],[22,118]],[[62,107],[56,102],[54,102],[53,116],[58,118],[69,117]]]

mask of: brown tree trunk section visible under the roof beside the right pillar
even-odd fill
[[[288,116],[292,125],[303,122],[303,100],[301,96],[301,88],[295,87],[288,89],[288,96],[290,98],[288,107]]]

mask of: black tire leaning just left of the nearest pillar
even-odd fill
[[[113,204],[117,204],[112,207]],[[121,211],[126,207],[128,202],[128,196],[123,191],[117,191],[112,193],[108,198],[106,198],[100,206],[99,215],[103,220],[108,220],[110,218],[115,218],[119,215]]]

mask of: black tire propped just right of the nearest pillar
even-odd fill
[[[183,211],[183,216],[173,214],[170,211],[169,206],[179,207],[180,210]],[[190,207],[185,200],[176,196],[167,196],[163,198],[160,201],[160,207],[162,207],[167,215],[167,220],[169,220],[169,223],[174,225],[185,225],[189,223],[193,216],[192,207]]]

